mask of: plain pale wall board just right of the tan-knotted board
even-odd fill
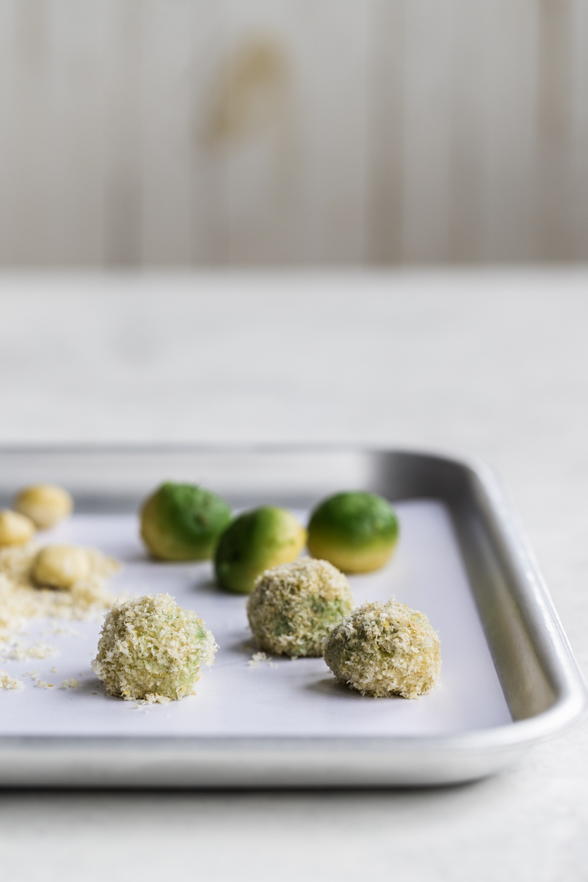
[[[371,19],[371,0],[306,0],[299,8],[301,178],[309,253],[322,263],[364,259]]]

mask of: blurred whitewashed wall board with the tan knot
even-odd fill
[[[289,262],[299,251],[302,210],[292,7],[278,0],[231,0],[228,13],[230,27],[209,90],[216,125],[209,116],[208,142],[227,194],[227,262]],[[223,115],[227,124],[219,129]]]

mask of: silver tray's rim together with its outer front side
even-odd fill
[[[92,783],[91,779],[94,778],[94,775],[82,774],[82,780],[76,780],[78,778],[79,770],[77,770],[78,764],[75,761],[75,755],[79,753],[80,759],[81,755],[84,755],[87,761],[90,759],[87,755],[87,751],[90,749],[92,759],[94,760],[93,765],[95,765],[95,760],[98,759],[96,751],[100,751],[100,748],[102,757],[107,762],[115,759],[115,755],[117,754],[120,755],[121,758],[124,756],[128,760],[130,754],[138,753],[138,755],[141,755],[146,759],[147,755],[156,749],[157,756],[162,761],[163,766],[166,766],[169,761],[177,761],[177,754],[179,751],[185,760],[189,759],[190,756],[192,759],[197,760],[197,768],[199,772],[202,772],[202,759],[205,759],[202,755],[203,751],[204,753],[208,753],[210,758],[212,754],[209,751],[211,751],[212,748],[215,754],[218,753],[220,757],[223,758],[223,764],[226,763],[230,755],[235,756],[236,754],[241,757],[241,759],[244,759],[245,756],[251,753],[251,751],[258,754],[261,750],[264,756],[262,766],[265,766],[269,754],[277,754],[278,756],[287,755],[289,760],[294,760],[294,755],[296,755],[301,749],[307,760],[309,760],[312,755],[315,759],[316,757],[322,757],[323,759],[321,761],[323,762],[324,758],[331,755],[332,751],[335,751],[339,755],[342,755],[345,751],[350,751],[349,755],[353,757],[357,757],[359,754],[364,756],[366,751],[370,751],[380,758],[378,762],[381,762],[384,756],[392,759],[391,755],[393,754],[395,754],[398,759],[401,759],[403,756],[406,759],[409,759],[409,757],[413,758],[413,762],[409,761],[407,763],[406,774],[398,774],[398,768],[393,774],[391,774],[391,776],[390,774],[381,774],[380,778],[383,778],[383,780],[380,782],[383,785],[386,783],[400,785],[403,783],[422,783],[423,785],[430,783],[443,784],[449,783],[450,781],[457,782],[472,780],[473,778],[478,778],[486,774],[492,774],[499,768],[502,768],[503,766],[510,764],[511,761],[514,761],[514,759],[517,759],[520,752],[525,748],[549,737],[553,737],[565,729],[569,729],[569,727],[577,722],[585,712],[586,697],[588,693],[584,676],[577,665],[569,641],[563,631],[561,621],[555,611],[553,601],[547,590],[547,585],[540,573],[539,565],[534,557],[525,530],[522,527],[517,511],[514,505],[512,505],[508,492],[505,490],[502,482],[499,481],[494,470],[482,460],[467,456],[456,457],[455,455],[445,452],[414,448],[394,448],[388,450],[366,448],[361,451],[361,449],[351,447],[350,445],[239,445],[239,447],[233,445],[153,445],[148,447],[143,445],[59,445],[45,446],[43,448],[19,446],[10,448],[4,447],[3,449],[0,449],[0,456],[3,452],[26,452],[33,454],[35,452],[65,453],[68,451],[75,451],[78,453],[110,451],[132,452],[133,450],[161,453],[178,450],[186,452],[189,452],[190,450],[194,452],[222,452],[223,450],[226,450],[227,452],[247,452],[248,450],[251,452],[327,452],[331,450],[333,452],[353,451],[376,453],[380,455],[394,452],[434,457],[437,460],[445,460],[452,465],[467,469],[469,474],[475,477],[479,483],[483,496],[486,497],[486,517],[492,520],[495,536],[499,537],[502,542],[503,549],[509,557],[510,564],[517,572],[520,584],[526,589],[523,594],[524,600],[526,601],[525,616],[527,622],[533,626],[536,639],[539,639],[541,661],[544,664],[547,664],[549,675],[555,685],[557,698],[554,705],[547,711],[537,714],[530,719],[514,721],[507,726],[495,727],[492,729],[468,731],[458,736],[413,736],[410,738],[394,737],[390,739],[357,739],[345,737],[337,739],[316,739],[305,737],[296,739],[214,739],[214,745],[206,744],[207,739],[184,739],[175,738],[174,736],[165,739],[151,737],[130,737],[125,739],[110,737],[50,737],[39,739],[36,737],[19,738],[2,736],[0,737],[0,760],[2,761],[4,770],[0,772],[0,785],[13,786],[12,781],[14,781],[14,783],[34,786],[35,781],[41,784],[43,779],[47,779],[46,786],[55,786],[56,781],[54,775],[50,774],[49,770],[47,770],[49,774],[43,774],[42,763],[47,761],[50,762],[52,758],[55,760],[57,759],[57,754],[63,755],[63,751],[66,751],[69,754],[69,759],[73,760],[73,767],[71,768],[72,774],[66,774],[66,770],[63,768],[62,772],[65,774],[59,779],[59,782],[63,783],[63,786],[67,786],[68,784],[71,784],[71,786],[87,786]],[[166,746],[167,751],[162,752],[162,748]],[[449,759],[451,755],[459,755],[462,757],[470,755],[473,765],[470,764],[471,767],[469,771],[465,771],[464,774],[457,774],[455,770],[448,769],[447,775],[429,775],[427,780],[422,782],[415,780],[415,776],[417,779],[419,776],[416,774],[415,769],[412,768],[414,761],[418,766],[422,763],[423,759],[430,754],[435,754],[439,759],[442,756]],[[200,755],[198,759],[197,755]],[[42,758],[41,763],[34,761],[33,757],[36,757],[38,760],[41,760]],[[30,774],[26,774],[26,770],[21,767],[22,763],[19,759],[26,759],[29,763],[32,761],[32,766],[28,766]],[[12,773],[10,772],[10,769],[5,768],[5,761],[10,763]],[[50,763],[50,765],[55,764]],[[86,762],[84,765],[86,766]],[[101,766],[100,763],[98,765]],[[214,766],[214,763],[212,763],[212,765]],[[232,766],[233,763],[229,763],[229,765]],[[294,762],[294,766],[297,765],[298,764]],[[330,764],[327,763],[327,766],[329,765]],[[336,763],[336,765],[340,764]],[[62,766],[62,764],[57,763],[57,766]],[[287,771],[282,768],[281,774],[279,774],[279,768],[276,766],[275,762],[272,762],[270,763],[270,766],[273,767],[277,777],[270,781],[265,780],[267,779],[267,775],[261,774],[262,766],[255,762],[251,766],[250,772],[252,774],[253,769],[257,768],[257,772],[259,773],[258,778],[255,778],[254,774],[254,778],[250,779],[250,775],[245,774],[245,779],[247,779],[247,781],[234,781],[234,779],[231,779],[231,781],[233,781],[234,786],[296,786],[297,782],[300,786],[309,786],[309,781],[306,780],[304,775],[301,775],[300,768],[295,774],[294,767],[291,769],[292,774],[287,773]],[[396,766],[396,764],[392,763],[392,766]],[[86,773],[87,772],[88,769],[86,766]],[[367,768],[365,769],[365,772],[368,773]],[[381,768],[380,772],[383,773],[384,770]],[[99,779],[100,775],[103,774],[104,768],[102,768],[98,775]],[[198,781],[191,780],[192,775],[190,774],[188,774],[187,777],[190,778],[190,781],[186,782],[186,786],[195,786],[195,783],[198,783],[200,786],[217,786],[217,784],[218,786],[232,786],[231,781],[221,780],[222,778],[226,778],[226,775],[218,773],[216,774],[216,777],[215,774],[213,774],[212,779],[209,775],[205,775],[204,779],[200,777],[198,778]],[[237,778],[238,777],[239,776],[237,776]],[[328,774],[327,768],[325,769],[325,775],[321,776],[319,774],[318,779],[320,780],[313,781],[313,783],[315,786],[334,786],[337,782],[339,782],[341,786],[345,786],[346,783],[355,786],[355,784],[359,785],[363,782],[366,784],[369,783],[371,786],[377,782],[372,780],[373,777],[373,774],[362,776],[360,772],[359,780],[356,781],[357,774],[354,775],[353,770],[348,769],[348,774],[343,774],[340,781],[339,778],[337,778],[336,781],[333,781],[331,780],[332,776]],[[218,781],[217,778],[219,779]],[[31,780],[27,781],[27,779]],[[142,781],[143,786],[166,786],[167,779],[166,781],[157,781],[155,779],[157,779],[157,774],[152,781]],[[135,780],[132,775],[130,776],[129,781],[123,781],[116,776],[115,780],[113,780],[112,776],[108,774],[101,780],[103,781],[103,786],[114,786],[116,781],[120,781],[122,786],[132,786],[140,783]],[[170,781],[167,781],[167,784],[169,786],[175,786]],[[100,786],[100,780],[93,781],[93,786]]]

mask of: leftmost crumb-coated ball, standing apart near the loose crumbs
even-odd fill
[[[92,668],[110,695],[167,701],[189,695],[202,665],[212,665],[212,632],[169,594],[146,594],[113,604]]]

